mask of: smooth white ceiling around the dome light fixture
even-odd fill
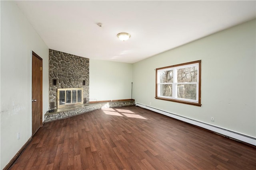
[[[50,49],[135,63],[256,18],[256,1],[16,1]],[[98,22],[103,25],[99,27]],[[128,32],[120,41],[116,34]]]

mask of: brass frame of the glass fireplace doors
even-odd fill
[[[78,90],[81,90],[81,102],[78,102]],[[64,98],[63,95],[61,95],[60,93],[63,94],[64,91]],[[70,91],[70,92],[67,92]],[[76,91],[76,97],[73,98],[73,91]],[[68,98],[67,98],[68,96]],[[62,99],[62,102],[60,101]],[[76,100],[76,102],[74,102],[73,100]],[[64,100],[64,103],[63,103]],[[57,108],[64,108],[64,107],[68,107],[68,106],[76,106],[76,105],[80,105],[80,104],[84,104],[83,102],[83,88],[58,88],[58,95],[57,95]]]

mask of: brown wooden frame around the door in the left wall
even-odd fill
[[[37,55],[34,51],[32,51],[32,53],[31,53],[31,101],[33,100],[32,99],[32,67],[33,67],[33,62],[32,62],[32,58],[33,58],[33,55],[36,57],[36,58],[38,58],[38,59],[40,59],[41,60],[41,62],[42,62],[42,71],[41,71],[41,74],[40,74],[40,77],[41,77],[41,84],[40,84],[40,90],[41,90],[41,103],[40,103],[40,127],[42,126],[42,120],[43,120],[43,59],[39,56],[39,55]],[[32,102],[31,102],[32,103]],[[31,104],[31,136],[33,136],[34,134],[33,134],[33,129],[32,129],[32,126],[33,126],[33,119],[32,119],[32,104]]]

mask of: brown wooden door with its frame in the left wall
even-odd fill
[[[42,58],[32,52],[32,136],[42,125]]]

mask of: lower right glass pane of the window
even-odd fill
[[[196,84],[177,84],[177,98],[196,100]]]

